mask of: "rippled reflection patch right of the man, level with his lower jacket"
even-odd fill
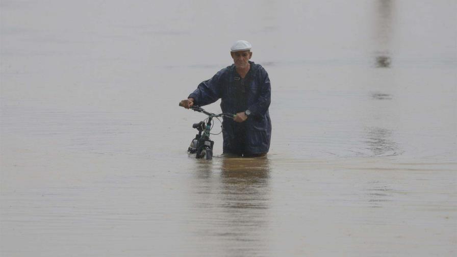
[[[368,127],[365,144],[375,156],[396,156],[399,154],[398,145],[390,139],[392,131],[382,127]]]

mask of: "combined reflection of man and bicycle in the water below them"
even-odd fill
[[[196,160],[195,164],[190,197],[197,237],[230,256],[266,251],[269,160],[222,157],[210,162]]]

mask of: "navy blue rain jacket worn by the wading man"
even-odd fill
[[[248,81],[247,109],[251,115],[246,119],[245,153],[265,153],[270,148],[271,120],[268,107],[271,100],[270,79],[267,71],[259,64],[249,61],[251,75]],[[238,76],[232,64],[217,72],[210,80],[201,82],[197,89],[189,95],[194,98],[194,105],[205,106],[221,99],[220,108],[223,113],[236,114],[236,89],[234,78]],[[234,152],[235,121],[224,117],[222,135],[223,151]]]

